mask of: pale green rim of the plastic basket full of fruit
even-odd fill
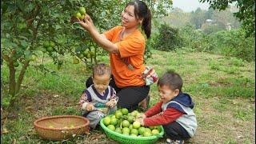
[[[110,114],[110,116],[111,116],[111,115],[113,115],[113,114]],[[120,138],[136,138],[136,139],[134,139],[134,140],[154,140],[154,139],[156,139],[156,138],[161,138],[162,135],[164,134],[164,130],[163,130],[163,127],[162,127],[162,126],[160,126],[160,127],[161,127],[161,133],[159,133],[159,134],[157,134],[157,135],[151,135],[151,136],[149,136],[149,137],[134,137],[134,136],[130,136],[130,135],[119,134],[118,132],[115,132],[115,131],[113,131],[113,130],[109,130],[109,129],[104,125],[103,119],[104,119],[104,118],[102,118],[101,121],[100,121],[100,126],[102,126],[102,129],[103,129],[103,130],[106,130],[108,133],[114,134],[114,135],[116,135],[116,136],[118,136],[118,137],[120,137]]]

